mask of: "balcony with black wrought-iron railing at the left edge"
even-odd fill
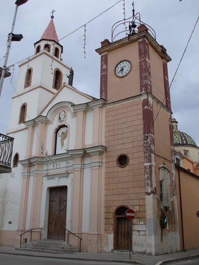
[[[14,138],[0,133],[0,173],[10,173]]]

